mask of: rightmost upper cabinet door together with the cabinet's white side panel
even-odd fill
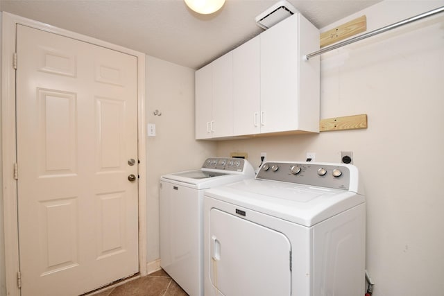
[[[319,31],[300,14],[260,35],[261,133],[319,132]]]

